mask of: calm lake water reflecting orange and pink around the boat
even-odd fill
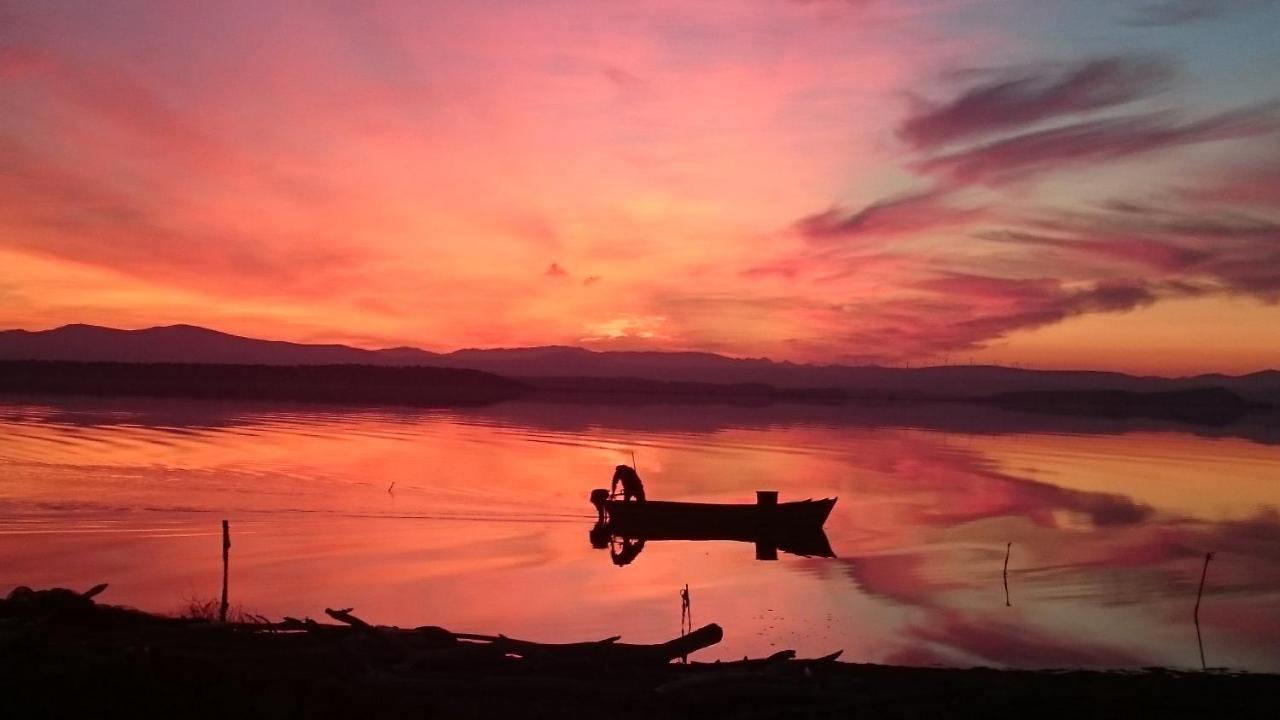
[[[218,596],[227,518],[232,603],[273,619],[658,642],[687,583],[726,632],[704,660],[1199,667],[1213,551],[1206,661],[1280,671],[1276,439],[963,406],[9,400],[0,592],[177,612]],[[586,498],[632,451],[650,498],[838,497],[838,557],[669,541],[616,566]]]

